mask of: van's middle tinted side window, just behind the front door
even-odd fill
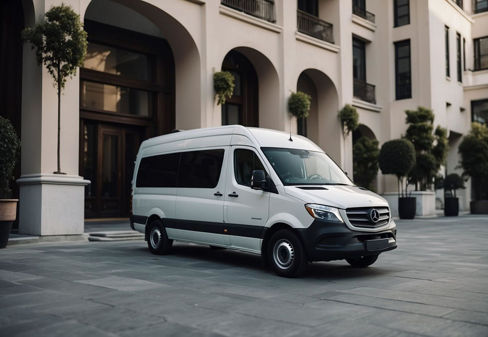
[[[178,187],[217,187],[223,161],[223,149],[182,152]]]

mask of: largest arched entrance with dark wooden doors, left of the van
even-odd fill
[[[136,27],[127,26],[131,17]],[[127,216],[139,145],[175,128],[175,61],[159,28],[121,4],[91,1],[84,28],[80,175],[91,181],[85,218]]]

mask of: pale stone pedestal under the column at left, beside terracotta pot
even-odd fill
[[[19,233],[80,235],[84,230],[84,187],[78,175],[29,174],[20,185]]]

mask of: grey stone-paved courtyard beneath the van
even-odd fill
[[[488,336],[488,217],[397,221],[366,269],[176,243],[66,242],[0,250],[0,336]]]

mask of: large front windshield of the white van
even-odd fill
[[[355,186],[343,170],[324,152],[282,148],[261,148],[261,150],[285,186]]]

